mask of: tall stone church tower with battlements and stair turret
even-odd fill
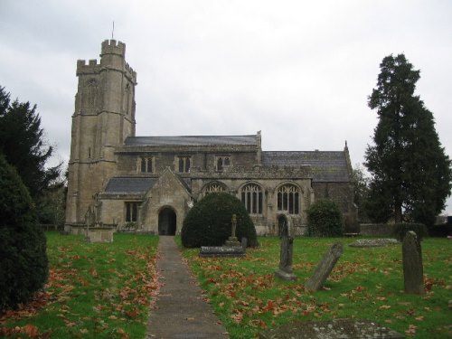
[[[116,170],[114,149],[135,137],[137,72],[126,45],[102,42],[100,62],[77,61],[78,91],[72,116],[66,224],[84,222],[94,197]]]

